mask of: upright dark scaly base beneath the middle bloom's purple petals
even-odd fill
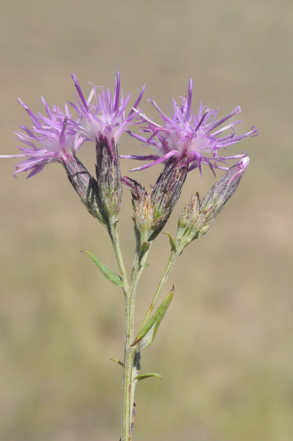
[[[111,145],[101,133],[96,141],[96,176],[100,200],[108,218],[116,218],[120,211],[122,183],[117,145]]]

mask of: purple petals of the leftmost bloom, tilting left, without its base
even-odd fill
[[[21,171],[31,172],[28,178],[39,173],[46,164],[51,162],[66,161],[66,156],[75,156],[76,151],[84,143],[85,138],[75,136],[76,123],[71,119],[67,105],[65,105],[65,114],[58,106],[52,106],[52,111],[42,98],[42,103],[46,109],[47,116],[34,115],[33,112],[18,100],[25,108],[33,122],[29,129],[26,126],[20,126],[24,131],[16,132],[19,141],[23,142],[27,147],[19,147],[21,154],[17,155],[0,155],[0,158],[26,158],[16,166],[17,171],[14,176]],[[37,147],[35,143],[40,147]]]

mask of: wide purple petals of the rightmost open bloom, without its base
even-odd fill
[[[187,156],[186,164],[189,165],[189,171],[193,168],[199,168],[201,173],[201,165],[208,165],[214,173],[214,168],[221,168],[227,170],[229,167],[223,166],[227,164],[229,159],[244,158],[247,153],[243,152],[240,155],[220,156],[218,150],[220,148],[227,149],[231,144],[235,144],[242,138],[250,135],[257,135],[255,127],[251,131],[243,135],[236,136],[234,126],[241,123],[236,121],[219,128],[221,124],[231,118],[231,116],[240,113],[240,107],[237,106],[229,115],[221,120],[217,120],[217,110],[212,110],[209,107],[203,106],[200,103],[198,115],[195,116],[191,110],[191,93],[192,80],[189,80],[188,96],[183,98],[181,106],[179,106],[172,98],[174,110],[169,110],[170,116],[166,115],[160,107],[150,100],[152,105],[158,110],[161,118],[164,121],[164,126],[160,126],[146,117],[145,114],[140,113],[140,120],[146,123],[141,132],[150,133],[148,138],[134,134],[127,130],[127,132],[140,141],[150,145],[156,151],[155,155],[131,155],[121,156],[122,158],[139,159],[139,160],[153,160],[153,162],[142,167],[134,168],[134,170],[142,170],[151,167],[160,162],[166,162],[169,158],[176,157],[178,160],[184,155]],[[230,133],[225,134],[227,130]]]

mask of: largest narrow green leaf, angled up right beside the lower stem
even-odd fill
[[[138,350],[141,351],[145,349],[154,339],[158,327],[166,314],[168,306],[174,295],[174,286],[172,290],[166,295],[161,305],[158,307],[155,314],[148,320],[145,326],[139,330],[134,342],[131,346],[134,346],[137,343],[140,343],[138,346]]]

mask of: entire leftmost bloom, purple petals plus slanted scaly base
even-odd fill
[[[16,166],[17,170],[14,175],[21,171],[31,170],[28,178],[39,173],[46,164],[61,163],[71,185],[87,210],[108,228],[98,195],[97,182],[76,157],[76,152],[84,143],[85,137],[76,136],[77,121],[71,118],[67,105],[65,105],[65,114],[57,106],[53,106],[51,111],[42,98],[47,112],[47,116],[43,116],[41,113],[34,115],[27,105],[23,104],[21,100],[19,102],[28,112],[33,125],[31,128],[21,126],[24,133],[17,132],[16,134],[18,139],[29,148],[18,147],[21,154],[0,155],[0,158],[26,158]],[[36,143],[39,144],[39,147]]]

